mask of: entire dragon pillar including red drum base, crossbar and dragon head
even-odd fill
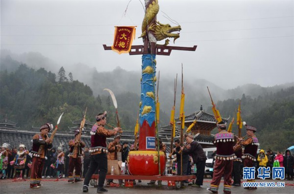
[[[158,175],[163,174],[166,165],[166,153],[156,148],[156,55],[169,56],[172,50],[195,51],[194,47],[169,46],[179,38],[179,33],[172,33],[181,30],[181,26],[171,26],[156,21],[159,11],[158,0],[145,0],[145,17],[142,22],[142,34],[144,45],[132,45],[129,49],[130,55],[142,56],[142,78],[141,78],[141,102],[140,102],[140,131],[139,148],[130,151],[127,157],[128,170],[132,175]],[[157,41],[165,40],[165,44],[157,44]],[[128,43],[128,42],[127,42]],[[117,46],[122,46],[118,44]],[[113,47],[103,44],[105,50]],[[135,141],[136,142],[136,141]]]

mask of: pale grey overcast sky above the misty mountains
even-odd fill
[[[115,25],[137,25],[133,45],[142,44],[144,0],[129,1],[1,0],[1,49],[40,52],[58,69],[82,63],[98,71],[121,66],[139,72],[141,55],[119,55],[102,46],[112,45]],[[182,28],[170,45],[197,45],[196,52],[158,55],[160,77],[173,79],[183,63],[186,79],[206,79],[224,89],[294,82],[293,2],[159,0],[157,20],[176,25],[168,16]]]

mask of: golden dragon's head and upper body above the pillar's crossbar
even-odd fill
[[[146,28],[148,31],[153,31],[156,41],[162,41],[166,38],[173,38],[173,43],[176,39],[180,37],[180,34],[173,34],[172,32],[180,31],[181,26],[172,27],[170,24],[162,24],[158,21],[151,24],[152,20],[155,18],[159,11],[158,0],[154,0],[148,7],[145,13],[144,20],[142,22],[142,34],[139,38],[146,37]],[[164,45],[167,45],[169,40],[166,40]]]

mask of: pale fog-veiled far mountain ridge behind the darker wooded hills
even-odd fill
[[[126,71],[119,65],[116,69],[110,72],[104,72],[103,65],[99,65],[99,68],[89,67],[88,65],[77,63],[73,65],[57,65],[47,57],[44,57],[40,53],[23,53],[16,55],[7,50],[1,50],[1,63],[0,69],[13,70],[17,68],[21,63],[25,63],[27,66],[34,69],[41,67],[57,74],[61,66],[64,67],[66,75],[70,72],[73,74],[73,80],[78,80],[90,86],[93,90],[94,96],[108,95],[104,88],[111,89],[116,95],[125,92],[131,92],[138,94],[138,101],[140,101],[141,92],[141,72]],[[161,76],[163,77],[163,76]],[[163,112],[169,114],[173,106],[173,90],[174,90],[174,78],[161,78],[159,83],[159,101],[161,103],[161,109]],[[221,79],[221,78],[220,78]],[[262,87],[256,84],[246,84],[244,86],[238,86],[234,89],[224,90],[215,84],[208,82],[204,79],[196,79],[191,77],[185,77],[184,75],[184,93],[185,97],[185,113],[186,115],[198,111],[200,105],[203,106],[207,112],[211,111],[211,100],[207,90],[207,86],[211,92],[214,103],[218,106],[220,101],[226,99],[241,99],[242,95],[250,96],[252,98],[258,98],[270,93],[279,91],[282,88],[294,86],[294,83],[288,83],[279,86]],[[181,72],[178,73],[177,78],[177,91],[176,91],[176,111],[178,111],[179,101],[181,95]],[[237,106],[237,105],[236,105]],[[223,115],[229,117],[229,115]]]

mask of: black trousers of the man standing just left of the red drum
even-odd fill
[[[103,188],[106,173],[107,173],[107,154],[106,153],[99,153],[96,155],[92,155],[90,157],[90,166],[86,173],[84,185],[89,186],[89,182],[93,173],[99,170],[99,180],[98,180],[98,188]]]

